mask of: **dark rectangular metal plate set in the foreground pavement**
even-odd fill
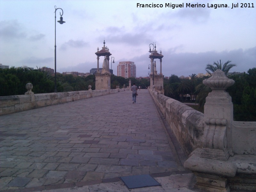
[[[161,186],[153,177],[148,174],[145,175],[132,175],[120,177],[120,179],[124,182],[127,188],[141,188],[141,187],[153,187],[153,186]]]

